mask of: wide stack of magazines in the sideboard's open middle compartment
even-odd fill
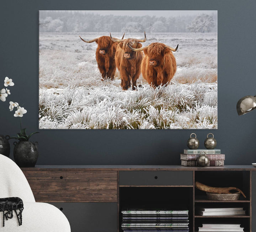
[[[188,232],[188,210],[122,210],[124,232]]]

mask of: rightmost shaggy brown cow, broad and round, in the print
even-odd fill
[[[129,45],[128,45],[129,46]],[[177,51],[162,43],[151,43],[144,48],[133,51],[144,51],[144,58],[141,63],[143,78],[152,86],[167,85],[176,72],[176,60],[171,51]]]

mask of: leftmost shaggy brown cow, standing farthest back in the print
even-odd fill
[[[80,35],[79,35],[80,37]],[[122,39],[124,38],[124,34]],[[109,36],[102,36],[96,39],[86,41],[80,37],[85,43],[96,42],[98,47],[96,49],[96,60],[98,63],[98,69],[101,73],[101,80],[114,79],[114,74],[116,73],[116,62],[115,62],[115,53],[117,44],[111,40]],[[115,38],[116,39],[116,38]]]

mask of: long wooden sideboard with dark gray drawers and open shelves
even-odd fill
[[[121,232],[126,206],[179,204],[189,210],[190,232],[203,222],[239,222],[256,232],[256,168],[252,166],[55,166],[22,168],[36,201],[57,206],[72,232]],[[194,187],[195,181],[216,187],[238,187],[237,201],[213,201]],[[243,207],[246,215],[200,216],[197,206]]]

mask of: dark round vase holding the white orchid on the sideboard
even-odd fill
[[[34,167],[38,159],[38,142],[14,142],[14,160],[19,167]]]

